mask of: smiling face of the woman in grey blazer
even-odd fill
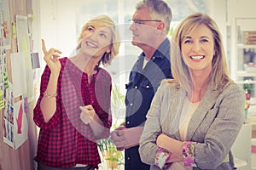
[[[214,39],[206,25],[196,26],[183,37],[181,42],[183,60],[190,71],[212,71]]]

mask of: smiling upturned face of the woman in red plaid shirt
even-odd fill
[[[81,52],[94,57],[101,57],[110,52],[112,31],[106,26],[87,26],[81,41]]]

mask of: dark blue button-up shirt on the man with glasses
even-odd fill
[[[143,68],[145,54],[142,53],[130,73],[126,84],[126,127],[143,126],[151,101],[160,82],[171,78],[170,41],[166,38]],[[131,137],[132,138],[132,137]],[[148,170],[138,153],[138,145],[125,150],[125,170]]]

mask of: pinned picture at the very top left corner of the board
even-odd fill
[[[9,1],[0,0],[0,46],[11,48],[11,31],[9,23]]]

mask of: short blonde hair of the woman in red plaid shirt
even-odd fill
[[[102,59],[100,60],[100,63],[102,62],[102,65],[110,65],[112,59],[119,54],[119,30],[117,26],[115,26],[112,19],[110,19],[107,15],[98,15],[95,18],[89,20],[82,28],[82,31],[80,32],[79,38],[78,38],[78,47],[81,48],[81,40],[83,38],[83,33],[89,26],[108,26],[112,32],[112,39],[111,39],[111,48],[109,53],[105,53],[102,56]],[[99,63],[99,65],[100,65]]]

